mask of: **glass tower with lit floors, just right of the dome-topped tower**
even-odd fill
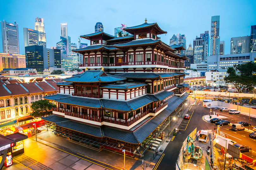
[[[206,45],[205,41],[200,37],[196,37],[193,41],[193,55],[195,64],[206,61]]]

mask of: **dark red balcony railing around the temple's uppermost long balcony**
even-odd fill
[[[161,61],[139,61],[139,62],[121,62],[121,63],[93,63],[93,64],[80,64],[79,67],[92,67],[92,66],[122,66],[122,65],[165,65],[175,68],[186,68],[185,66],[170,65]]]

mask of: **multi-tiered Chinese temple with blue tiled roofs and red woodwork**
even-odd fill
[[[83,35],[88,47],[82,74],[56,85],[58,94],[45,96],[56,104],[53,115],[42,117],[57,135],[75,142],[128,155],[143,156],[153,141],[161,141],[169,116],[187,98],[182,46],[168,46],[157,23],[127,27],[131,36],[114,37],[103,31]]]

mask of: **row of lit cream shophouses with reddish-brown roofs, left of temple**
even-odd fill
[[[48,95],[59,93],[56,86],[59,81],[33,83],[1,83],[0,85],[0,127],[8,125],[13,120],[30,114],[30,105],[34,101]]]

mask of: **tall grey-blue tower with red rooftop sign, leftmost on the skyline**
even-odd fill
[[[3,53],[20,54],[18,24],[1,21]]]

